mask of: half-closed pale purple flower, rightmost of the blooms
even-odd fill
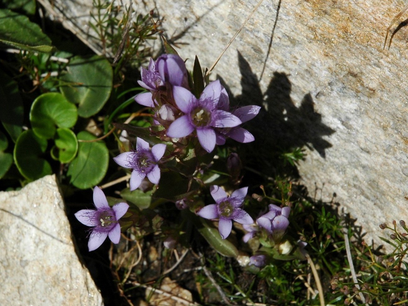
[[[284,232],[289,225],[289,213],[289,206],[282,208],[270,204],[268,213],[259,217],[257,224],[265,228],[268,233],[273,233],[274,231]]]

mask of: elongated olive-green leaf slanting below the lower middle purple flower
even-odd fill
[[[214,248],[215,251],[227,257],[237,257],[238,250],[236,246],[227,239],[222,239],[217,228],[208,224],[208,222],[199,218],[202,226],[199,226],[198,231],[207,240],[207,242]],[[197,224],[197,223],[196,223]]]

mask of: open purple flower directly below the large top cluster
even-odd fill
[[[137,137],[135,151],[119,154],[113,160],[119,166],[133,169],[130,177],[130,190],[135,190],[146,176],[153,184],[159,183],[160,168],[157,162],[163,157],[164,151],[166,151],[165,144],[155,144],[150,149],[148,142]]]

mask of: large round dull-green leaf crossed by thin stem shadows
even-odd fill
[[[60,90],[69,102],[78,104],[78,115],[88,118],[102,109],[112,91],[111,64],[100,56],[74,57],[62,75]]]

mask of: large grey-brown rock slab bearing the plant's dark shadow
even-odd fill
[[[136,11],[155,9],[164,17],[181,57],[197,54],[203,67],[257,4],[136,2]],[[395,0],[264,0],[213,71],[238,102],[264,106],[255,148],[306,146],[302,184],[310,193],[319,189],[317,200],[329,202],[335,193],[367,238],[381,235],[380,223],[408,215],[408,29],[395,24],[383,50],[388,24],[402,7]]]

